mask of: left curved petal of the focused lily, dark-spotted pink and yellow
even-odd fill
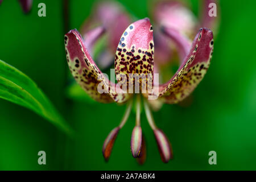
[[[69,69],[90,97],[99,102],[125,102],[129,96],[116,93],[115,85],[101,74],[77,30],[65,34],[65,51]]]

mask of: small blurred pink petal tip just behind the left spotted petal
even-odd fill
[[[96,27],[84,34],[84,43],[89,53],[92,53],[92,48],[96,41],[104,34],[104,27]]]

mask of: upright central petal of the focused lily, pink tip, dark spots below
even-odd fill
[[[150,20],[145,18],[130,24],[121,36],[115,53],[115,75],[123,74],[127,78],[129,73],[152,76],[153,69],[153,30]]]

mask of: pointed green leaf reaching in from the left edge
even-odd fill
[[[71,127],[35,82],[2,60],[0,60],[0,98],[27,107],[65,133],[73,133]]]

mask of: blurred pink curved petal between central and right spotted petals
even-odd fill
[[[191,48],[191,42],[184,35],[181,35],[175,28],[166,27],[162,28],[164,34],[166,34],[176,44],[178,49],[180,62],[184,60]]]

